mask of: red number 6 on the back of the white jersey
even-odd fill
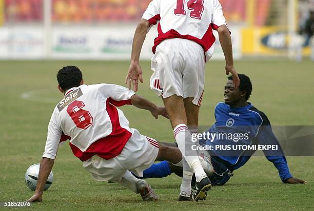
[[[77,128],[86,130],[93,124],[93,117],[90,115],[89,111],[82,109],[84,107],[84,102],[74,100],[71,104],[69,104],[67,112],[76,124]]]

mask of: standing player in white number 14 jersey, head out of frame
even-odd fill
[[[239,86],[240,80],[233,67],[230,31],[218,0],[153,0],[134,34],[131,64],[125,79],[129,89],[133,83],[134,91],[138,90],[138,80],[143,82],[139,58],[146,33],[158,22],[159,34],[152,48],[150,87],[163,98],[175,140],[185,158],[179,200],[202,200],[211,186],[210,180],[197,152],[190,152],[191,156],[187,156],[185,148],[191,141],[191,133],[197,132],[205,63],[214,50],[212,30],[219,33],[226,74],[231,73],[235,87]],[[191,194],[193,172],[197,184]]]

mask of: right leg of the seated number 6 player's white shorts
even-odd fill
[[[138,130],[131,129],[131,132],[132,136],[116,158],[123,168],[143,177],[143,171],[149,168],[158,156],[159,143],[153,138],[141,135]]]

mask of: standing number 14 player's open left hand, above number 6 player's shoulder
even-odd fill
[[[136,92],[139,89],[139,79],[143,83],[142,68],[138,62],[131,62],[127,76],[125,77],[125,84],[131,89],[131,83],[133,83],[133,91]]]

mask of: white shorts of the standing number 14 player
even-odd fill
[[[201,106],[205,80],[203,48],[188,39],[164,40],[151,58],[150,88],[163,98],[171,95],[193,97]]]

